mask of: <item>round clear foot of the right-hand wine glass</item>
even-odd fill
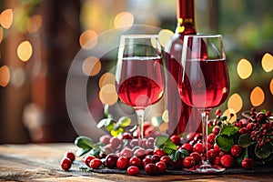
[[[224,167],[218,167],[210,164],[201,164],[197,167],[185,168],[184,170],[194,173],[218,173],[226,170]]]

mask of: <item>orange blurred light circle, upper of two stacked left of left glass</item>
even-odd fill
[[[80,35],[79,43],[84,49],[91,49],[96,46],[97,35],[93,30],[86,30],[82,35]]]

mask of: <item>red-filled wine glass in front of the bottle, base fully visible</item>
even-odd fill
[[[202,116],[203,155],[190,171],[220,172],[207,158],[207,119],[212,108],[223,104],[229,94],[229,78],[222,35],[185,35],[179,70],[178,91],[182,100]]]

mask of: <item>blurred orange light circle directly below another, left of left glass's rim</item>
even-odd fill
[[[101,62],[96,56],[89,56],[84,61],[82,69],[86,76],[96,76],[101,69]]]

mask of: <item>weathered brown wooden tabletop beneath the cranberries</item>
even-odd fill
[[[0,181],[273,181],[272,173],[239,175],[162,175],[131,177],[123,174],[101,174],[72,167],[61,169],[59,162],[73,144],[27,144],[0,146]]]

